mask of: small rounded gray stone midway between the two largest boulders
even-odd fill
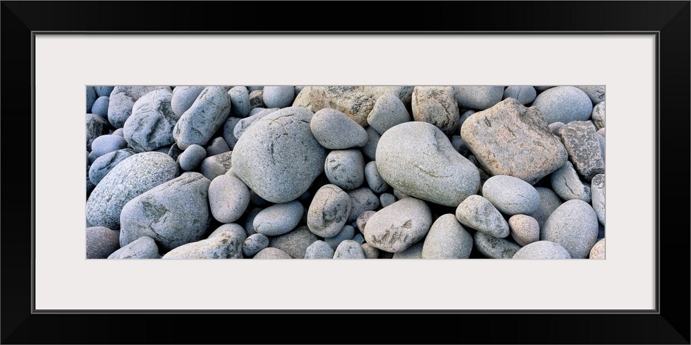
[[[332,150],[326,156],[324,172],[332,184],[353,190],[365,181],[365,159],[357,148]]]

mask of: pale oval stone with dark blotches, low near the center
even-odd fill
[[[427,204],[408,197],[372,215],[363,235],[370,246],[397,253],[425,237],[431,225],[432,213]]]

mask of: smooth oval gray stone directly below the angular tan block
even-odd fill
[[[518,177],[495,175],[482,185],[482,196],[504,215],[533,213],[540,206],[540,194]]]

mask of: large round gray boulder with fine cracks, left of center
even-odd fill
[[[235,175],[271,202],[305,193],[323,172],[327,153],[312,135],[310,119],[310,110],[290,107],[257,121],[235,145]]]

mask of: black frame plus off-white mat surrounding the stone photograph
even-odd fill
[[[3,344],[689,344],[689,1],[314,4],[2,2]],[[129,85],[604,85],[607,257],[85,259],[84,86]]]

